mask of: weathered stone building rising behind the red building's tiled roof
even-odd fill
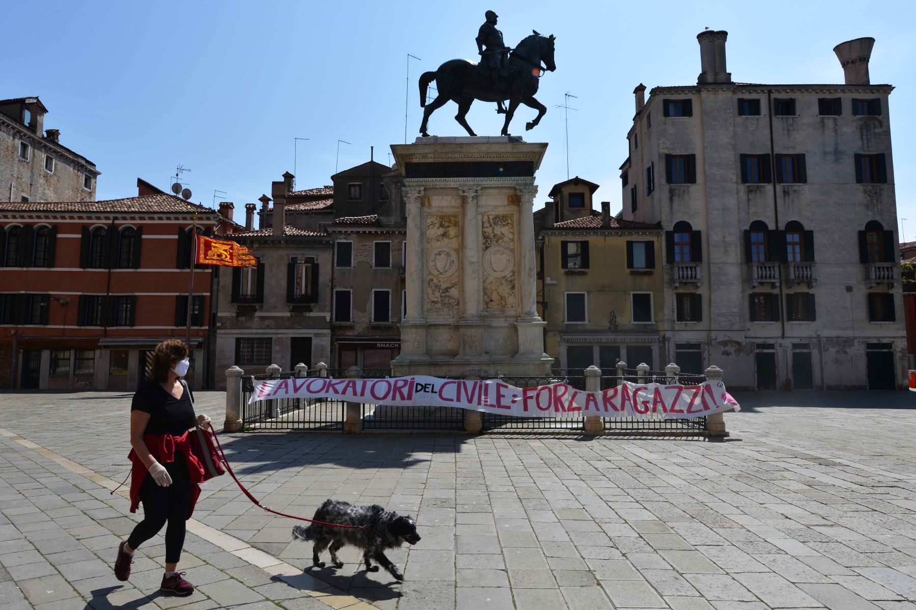
[[[45,129],[38,96],[0,100],[0,199],[94,201],[95,164]]]

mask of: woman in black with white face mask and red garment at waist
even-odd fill
[[[191,452],[189,430],[195,423],[206,427],[210,418],[194,417],[191,389],[180,382],[188,372],[188,347],[179,340],[156,346],[150,379],[130,405],[130,444],[133,466],[130,511],[143,503],[143,520],[118,547],[114,575],[119,581],[130,576],[134,551],[166,529],[166,573],[159,590],[190,595],[194,587],[177,572],[184,546],[185,521],[191,519],[201,493],[203,467]]]

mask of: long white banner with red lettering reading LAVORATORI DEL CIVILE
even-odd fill
[[[500,380],[444,380],[425,375],[384,380],[310,377],[256,381],[249,402],[283,398],[455,407],[517,417],[685,419],[740,409],[721,381],[686,386],[624,381],[605,391],[583,391],[567,383],[516,388]]]

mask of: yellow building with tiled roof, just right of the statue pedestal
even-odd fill
[[[536,217],[538,298],[544,348],[560,369],[628,369],[665,362],[659,225],[592,209],[594,183],[575,177],[551,189]]]

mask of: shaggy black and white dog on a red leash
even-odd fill
[[[388,573],[398,581],[404,580],[404,575],[386,556],[388,549],[397,549],[401,542],[416,544],[420,541],[417,526],[413,519],[398,515],[386,510],[377,504],[371,507],[357,507],[342,500],[325,500],[324,504],[315,511],[312,517],[316,521],[335,523],[337,525],[356,525],[359,528],[333,528],[318,523],[310,523],[303,527],[297,525],[292,529],[292,536],[299,540],[314,540],[312,547],[311,564],[323,568],[324,562],[318,556],[328,549],[331,551],[331,562],[335,568],[343,568],[344,562],[337,557],[347,544],[352,544],[363,550],[363,561],[368,572],[378,572],[378,565],[385,568]],[[330,548],[328,548],[330,545]],[[378,565],[372,565],[375,560]]]

